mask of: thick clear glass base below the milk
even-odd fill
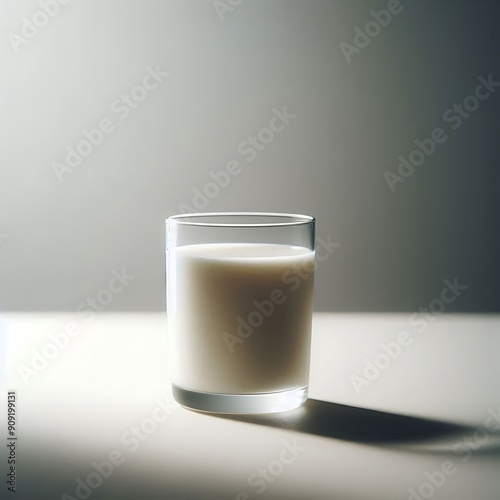
[[[307,399],[309,387],[262,394],[218,394],[183,389],[172,384],[172,395],[182,406],[211,413],[277,413],[293,410]]]

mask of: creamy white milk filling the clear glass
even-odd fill
[[[224,243],[171,252],[168,321],[175,385],[223,394],[307,386],[314,251]]]

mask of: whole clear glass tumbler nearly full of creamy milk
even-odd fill
[[[314,217],[200,213],[166,223],[176,401],[221,413],[300,406],[309,384]]]

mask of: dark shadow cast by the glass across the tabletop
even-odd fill
[[[442,439],[474,430],[454,423],[397,415],[317,399],[308,399],[301,407],[284,413],[212,415],[333,439],[378,444]]]

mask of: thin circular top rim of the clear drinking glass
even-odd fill
[[[224,218],[224,217],[259,217],[283,219],[280,222],[217,222],[192,219],[204,218]],[[311,215],[291,214],[282,212],[199,212],[171,215],[166,222],[175,222],[186,226],[204,226],[204,227],[282,227],[282,226],[302,226],[314,224],[316,219]]]

